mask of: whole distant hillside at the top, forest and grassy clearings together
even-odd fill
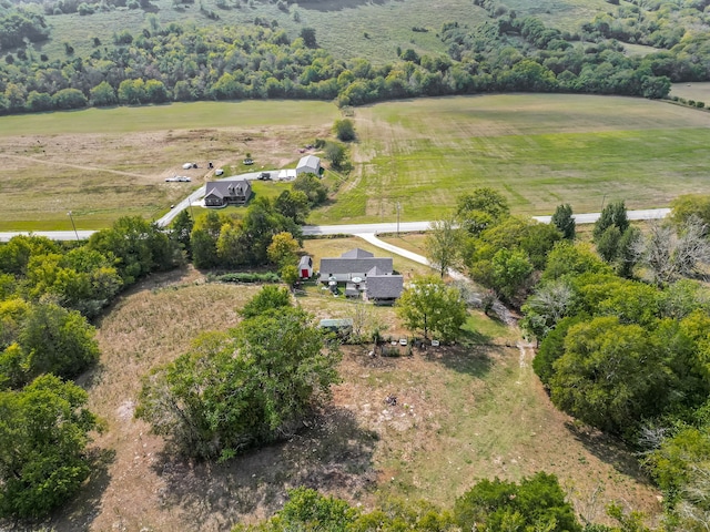
[[[671,81],[710,79],[706,1],[6,0],[0,23],[14,37],[0,42],[0,113],[491,91],[663,98]]]

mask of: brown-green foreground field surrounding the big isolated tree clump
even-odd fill
[[[115,301],[99,323],[101,362],[80,379],[106,423],[93,444],[102,467],[45,524],[58,532],[224,531],[270,515],[300,484],[366,508],[387,494],[449,507],[477,479],[538,470],[559,475],[587,519],[602,520],[610,501],[660,512],[635,458],[557,411],[531,370],[531,350],[515,346],[518,332],[480,313],[456,348],[371,358],[367,346],[345,347],[332,403],[287,442],[223,464],[174,459],[132,418],[140,378],[200,332],[233,326],[256,289],[205,284],[190,268],[153,275]],[[318,317],[354,306],[320,296],[298,303]],[[368,308],[389,325],[385,335],[402,334],[392,308]],[[390,393],[396,407],[383,402]]]

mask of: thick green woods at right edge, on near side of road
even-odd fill
[[[523,306],[552,402],[640,451],[677,530],[710,516],[710,290],[696,280],[710,260],[709,204],[678,198],[642,232],[623,202],[607,205],[594,246],[557,242]]]

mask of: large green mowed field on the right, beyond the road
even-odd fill
[[[560,203],[666,206],[710,193],[710,114],[618,96],[508,94],[390,102],[355,112],[358,163],[314,223],[432,219],[479,186],[519,214]]]

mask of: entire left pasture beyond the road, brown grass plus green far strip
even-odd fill
[[[335,116],[324,102],[248,101],[1,117],[0,228],[71,229],[68,211],[80,229],[158,218],[213,176],[207,161],[239,168],[251,153],[258,166],[293,165]],[[200,167],[184,171],[187,161]],[[175,174],[192,183],[165,183]]]

